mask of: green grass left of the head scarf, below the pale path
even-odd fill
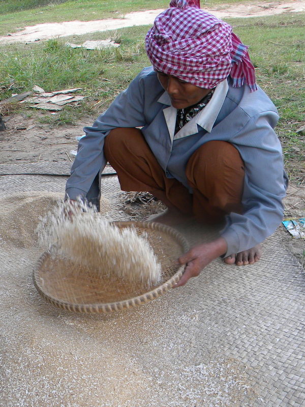
[[[97,115],[105,109],[116,95],[127,88],[130,81],[149,65],[143,43],[143,27],[100,33],[99,39],[112,38],[119,41],[119,48],[86,50],[70,48],[64,40],[51,39],[44,43],[26,46],[6,46],[0,53],[0,100],[12,94],[31,91],[38,85],[46,92],[68,88],[83,88],[86,96],[76,107],[65,106],[56,115],[46,113],[39,121],[52,126],[75,124],[84,114]],[[147,27],[148,30],[148,27]],[[102,36],[101,36],[102,34]],[[65,41],[94,39],[95,35],[68,37]],[[14,103],[14,111],[26,108]],[[3,109],[3,114],[12,112]]]

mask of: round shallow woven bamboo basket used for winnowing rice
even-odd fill
[[[145,232],[161,263],[158,286],[143,286],[115,276],[101,277],[97,270],[75,265],[69,259],[54,258],[44,252],[34,268],[34,284],[39,294],[55,307],[74,312],[108,313],[145,304],[165,294],[181,278],[184,267],[175,260],[188,250],[186,239],[175,229],[154,222],[113,222],[120,228],[135,227]]]

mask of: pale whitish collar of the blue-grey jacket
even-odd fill
[[[178,138],[187,137],[191,134],[198,132],[197,125],[208,131],[209,133],[212,130],[212,127],[218,117],[220,109],[225,101],[229,89],[227,80],[220,82],[214,91],[213,96],[211,97],[208,104],[200,110],[196,116],[190,120],[185,126],[183,126],[176,134],[175,125],[176,125],[176,115],[177,109],[171,106],[171,101],[168,93],[165,91],[161,97],[158,99],[158,102],[165,105],[169,105],[163,109],[164,117],[166,120],[167,128],[170,134],[171,140],[176,140]]]

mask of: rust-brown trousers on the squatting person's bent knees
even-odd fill
[[[150,192],[168,208],[209,223],[222,221],[230,212],[242,212],[245,169],[229,142],[208,141],[191,156],[186,176],[193,194],[176,179],[166,178],[138,129],[111,130],[105,138],[104,153],[123,191]]]

